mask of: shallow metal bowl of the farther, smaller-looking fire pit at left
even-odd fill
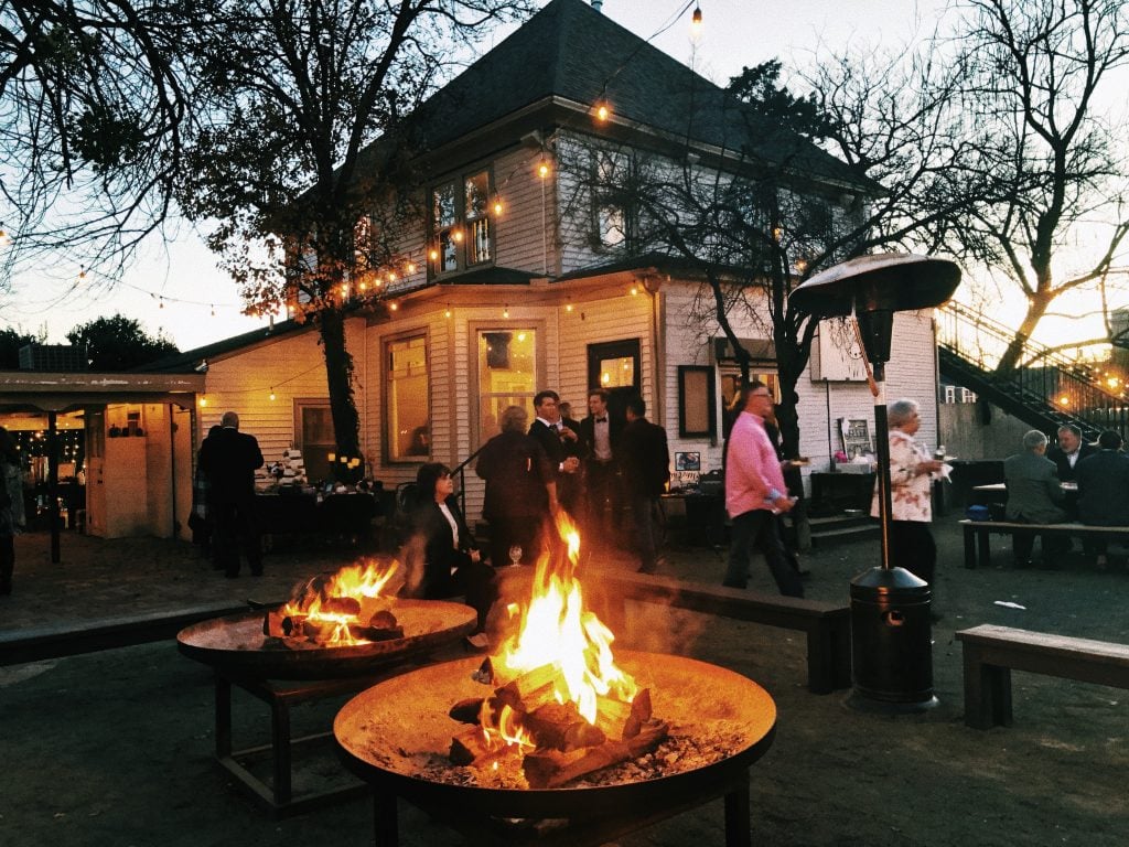
[[[478,615],[462,603],[397,600],[392,606],[403,638],[347,646],[288,646],[263,635],[264,612],[194,623],[176,636],[189,658],[218,671],[268,680],[326,680],[364,676],[474,631]]]

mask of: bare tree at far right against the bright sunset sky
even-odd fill
[[[1102,97],[1124,103],[1129,7],[966,0],[963,8],[955,46],[964,75],[952,101],[964,116],[956,137],[963,155],[952,177],[969,212],[936,239],[998,270],[1026,297],[997,366],[1005,372],[1056,299],[1084,289],[1104,297],[1111,276],[1126,273],[1118,260],[1129,234],[1129,167]]]

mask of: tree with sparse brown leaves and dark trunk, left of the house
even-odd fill
[[[210,120],[178,197],[191,218],[220,221],[210,245],[251,308],[287,303],[316,322],[341,456],[360,455],[343,309],[377,269],[406,268],[400,239],[420,216],[405,116],[453,51],[526,7],[216,0],[189,44]]]

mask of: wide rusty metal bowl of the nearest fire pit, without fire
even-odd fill
[[[376,787],[378,806],[383,802],[387,810],[391,796],[394,809],[394,797],[400,796],[421,809],[444,812],[448,822],[463,815],[657,820],[656,810],[669,810],[662,815],[668,817],[733,792],[735,783],[744,785],[747,806],[749,766],[769,749],[776,731],[776,704],[764,689],[732,671],[680,656],[616,650],[615,661],[641,688],[650,689],[654,715],[671,725],[672,736],[727,735],[732,739],[727,756],[644,780],[624,776],[615,781],[612,769],[598,786],[523,791],[428,778],[426,768],[446,762],[450,739],[463,728],[447,716],[450,706],[490,690],[471,679],[481,657],[430,665],[377,683],[342,707],[333,734],[347,767]],[[688,805],[690,797],[697,801]],[[380,826],[378,819],[378,830]],[[744,826],[747,829],[747,814]]]

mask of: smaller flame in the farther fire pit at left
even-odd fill
[[[379,608],[380,592],[399,567],[396,561],[384,564],[376,559],[361,559],[355,565],[347,565],[325,579],[306,583],[301,594],[282,606],[281,614],[322,625],[323,635],[318,641],[324,644],[368,644],[365,638],[356,638],[349,631],[349,625],[368,622]],[[332,600],[339,597],[356,600],[360,611],[351,613],[326,609]]]

